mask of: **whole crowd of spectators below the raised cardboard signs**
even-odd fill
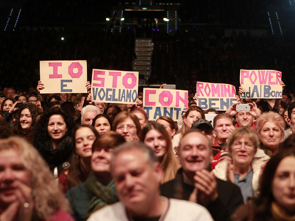
[[[182,121],[149,122],[141,91],[119,104],[91,101],[89,82],[88,94],[45,86],[2,91],[0,220],[294,218],[292,94],[237,96],[219,113],[190,93]]]

